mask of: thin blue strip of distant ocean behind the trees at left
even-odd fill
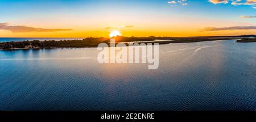
[[[44,40],[55,40],[55,41],[60,41],[60,40],[75,40],[75,39],[84,39],[84,38],[45,38],[45,37],[0,37],[0,42],[10,42],[10,41],[32,41],[32,40],[39,40],[39,41],[44,41]]]

